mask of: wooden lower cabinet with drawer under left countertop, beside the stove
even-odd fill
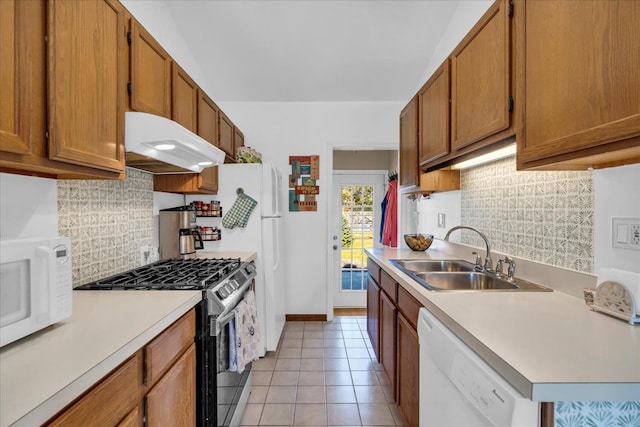
[[[44,425],[195,426],[194,338],[191,310]]]

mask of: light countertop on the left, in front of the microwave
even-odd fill
[[[201,291],[74,291],[70,318],[0,350],[0,426],[40,425],[201,299]]]

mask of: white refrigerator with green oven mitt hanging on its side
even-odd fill
[[[282,246],[285,189],[282,175],[271,163],[218,166],[218,194],[211,198],[220,201],[223,217],[236,201],[239,188],[258,202],[246,227],[228,229],[222,227],[222,221],[218,220],[222,238],[215,242],[205,241],[204,251],[257,252],[255,293],[261,347],[266,351],[274,351],[285,322]],[[202,196],[199,199],[202,200]]]

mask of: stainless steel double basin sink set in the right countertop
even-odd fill
[[[389,262],[433,291],[551,291],[525,280],[507,280],[493,273],[476,271],[474,264],[462,260],[392,259]]]

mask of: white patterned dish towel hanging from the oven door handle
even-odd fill
[[[258,347],[260,335],[258,334],[258,319],[256,314],[256,297],[252,290],[247,291],[244,299],[233,310],[236,314],[236,364],[239,373],[260,355]]]

